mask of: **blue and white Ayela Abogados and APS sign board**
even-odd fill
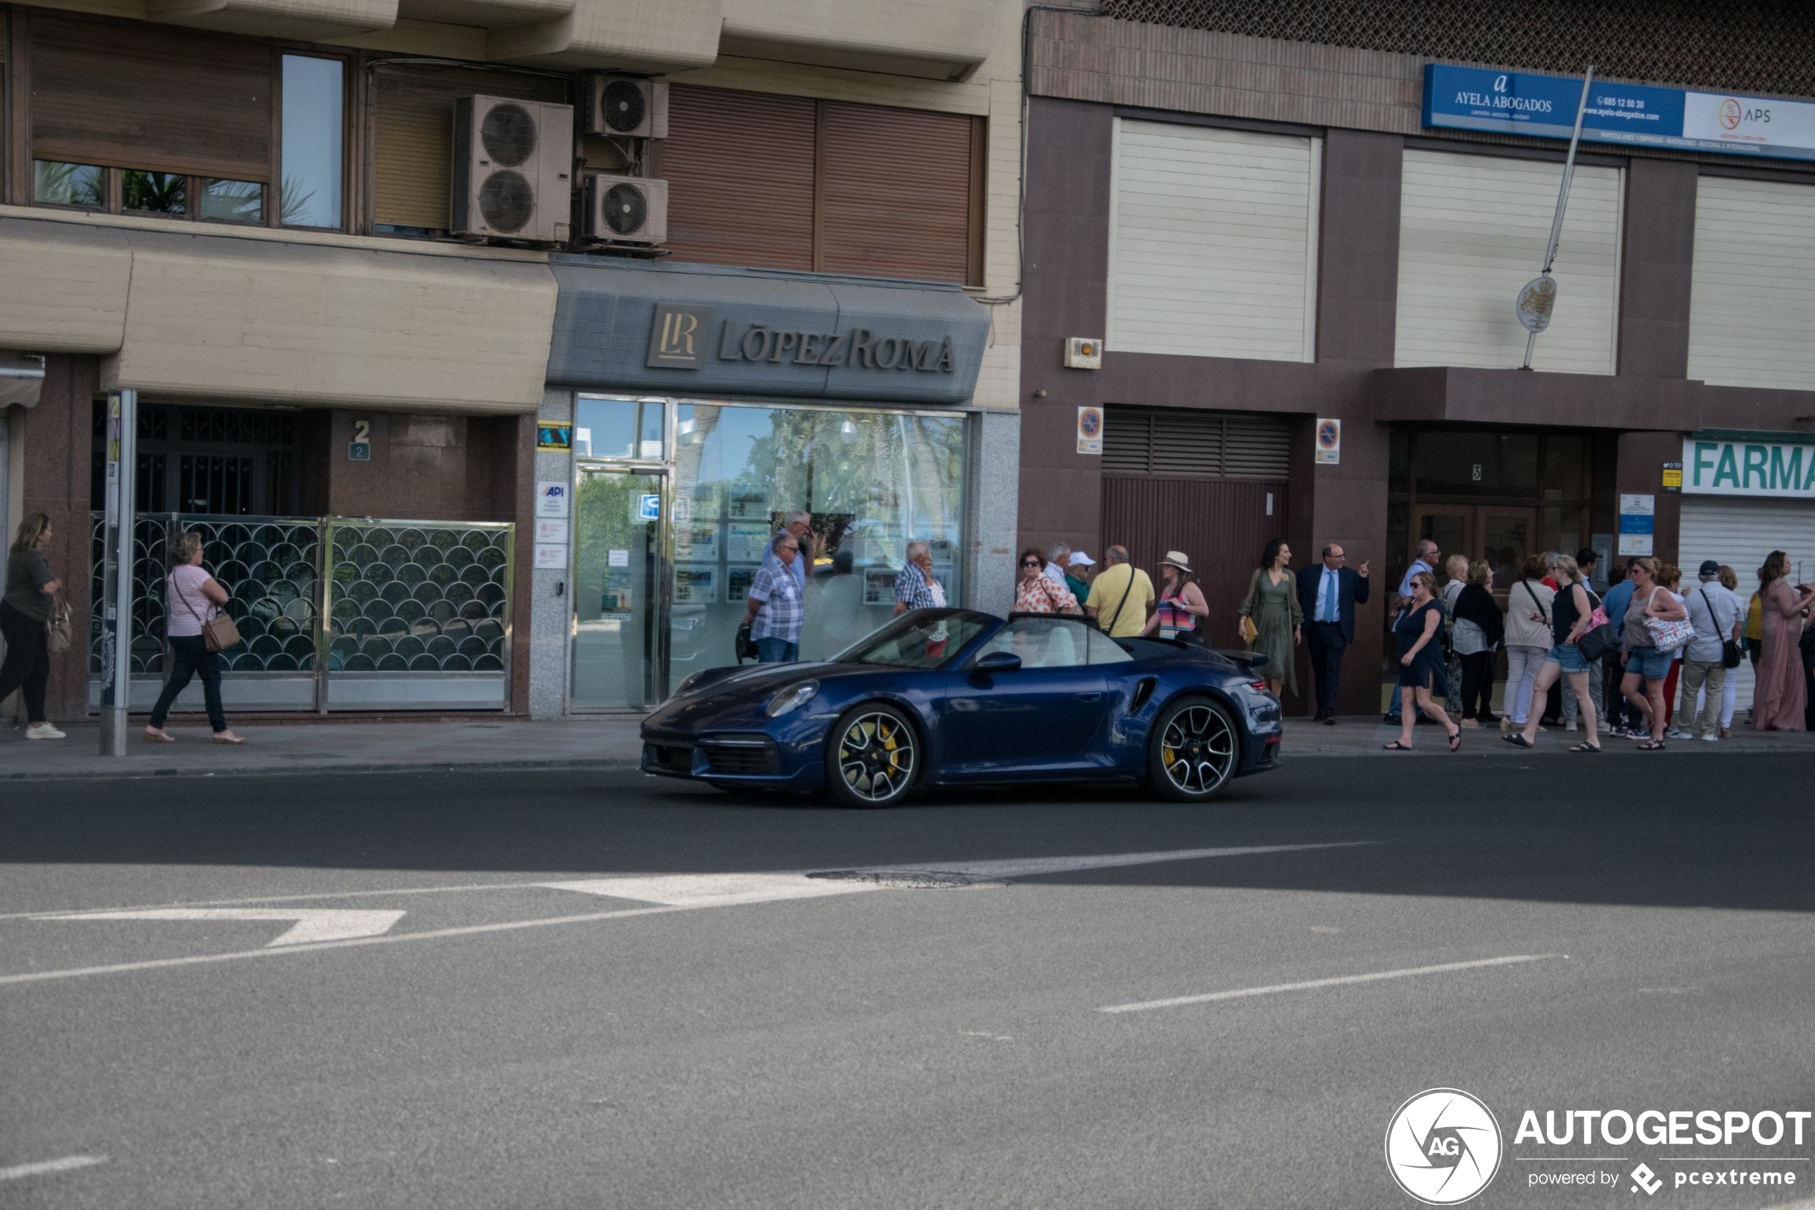
[[[1581,94],[1581,76],[1427,63],[1425,125],[1568,138]],[[1815,103],[1595,80],[1583,138],[1815,160]]]

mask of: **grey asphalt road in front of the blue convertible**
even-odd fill
[[[1810,787],[1693,751],[1307,760],[1211,807],[20,786],[0,1206],[1416,1206],[1385,1137],[1436,1087],[1501,1130],[1472,1206],[1793,1203],[1815,1127],[1516,1132],[1815,1110]],[[1205,849],[1267,851],[1156,860]],[[1715,1168],[1797,1183],[1675,1186]]]

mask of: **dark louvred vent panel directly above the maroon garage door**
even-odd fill
[[[1171,479],[1290,479],[1290,423],[1260,412],[1111,406],[1104,410],[1104,472]]]

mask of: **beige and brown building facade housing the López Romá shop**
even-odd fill
[[[53,517],[89,624],[105,401],[138,392],[142,706],[185,530],[247,637],[231,711],[644,707],[731,659],[791,508],[837,581],[809,649],[915,537],[1002,604],[1020,31],[962,0],[0,5],[0,521]],[[624,89],[643,125],[601,111]],[[652,352],[681,316],[695,365]],[[98,704],[76,648],[58,718]]]

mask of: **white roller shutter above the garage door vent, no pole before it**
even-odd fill
[[[1314,138],[1118,118],[1105,345],[1312,361],[1321,158]]]

